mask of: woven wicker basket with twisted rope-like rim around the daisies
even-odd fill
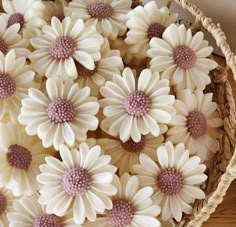
[[[198,227],[210,217],[218,204],[222,202],[230,183],[236,178],[235,102],[230,83],[227,80],[229,68],[231,68],[234,79],[236,79],[236,61],[220,25],[215,25],[211,18],[204,16],[203,12],[188,0],[169,0],[168,7],[172,1],[178,3],[195,17],[194,29],[201,28],[211,33],[227,62],[225,68],[219,66],[210,73],[212,83],[206,88],[206,92],[213,92],[214,101],[217,102],[221,117],[224,120],[220,151],[207,163],[208,181],[204,185],[206,199],[196,201],[193,205],[193,213],[185,215],[179,225]],[[133,1],[133,7],[140,4],[140,1]]]

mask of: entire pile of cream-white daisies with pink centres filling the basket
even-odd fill
[[[223,122],[202,32],[154,1],[2,0],[0,226],[174,226]]]

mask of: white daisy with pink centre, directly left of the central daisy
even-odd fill
[[[72,80],[50,78],[46,82],[47,96],[38,89],[29,89],[22,101],[19,122],[26,126],[29,135],[38,135],[44,147],[61,144],[74,146],[85,141],[88,130],[96,130],[99,110],[89,87],[80,89]]]

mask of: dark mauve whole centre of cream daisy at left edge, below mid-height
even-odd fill
[[[14,144],[8,148],[7,160],[10,166],[27,170],[32,162],[32,154],[27,148]]]

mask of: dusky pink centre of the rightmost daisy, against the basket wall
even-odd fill
[[[190,135],[197,139],[207,132],[206,117],[200,111],[192,111],[187,116],[187,129]]]

